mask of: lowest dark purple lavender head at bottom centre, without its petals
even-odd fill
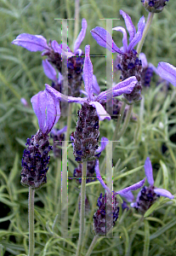
[[[102,196],[99,195],[97,201],[97,206],[99,207],[94,213],[94,231],[98,236],[106,236],[106,234],[115,225],[118,218],[119,207],[116,196],[112,197],[110,194]]]

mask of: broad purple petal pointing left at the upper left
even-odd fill
[[[12,44],[20,45],[31,51],[43,51],[44,49],[49,49],[47,40],[43,36],[31,35],[31,34],[20,34]]]

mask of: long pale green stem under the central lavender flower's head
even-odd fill
[[[83,162],[82,163],[82,189],[81,189],[79,240],[78,240],[78,244],[77,244],[76,256],[79,256],[81,254],[81,250],[82,250],[82,240],[83,240],[83,231],[84,231],[84,216],[85,216],[86,174],[87,174],[87,162]]]

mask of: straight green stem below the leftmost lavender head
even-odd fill
[[[34,193],[29,187],[29,256],[34,255]]]

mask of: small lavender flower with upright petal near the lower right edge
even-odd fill
[[[143,214],[152,206],[159,196],[165,196],[169,199],[174,198],[174,196],[167,189],[158,189],[154,186],[153,171],[149,157],[147,157],[145,160],[145,175],[150,186],[143,187],[139,191],[136,201],[131,203],[131,207],[135,207]]]

